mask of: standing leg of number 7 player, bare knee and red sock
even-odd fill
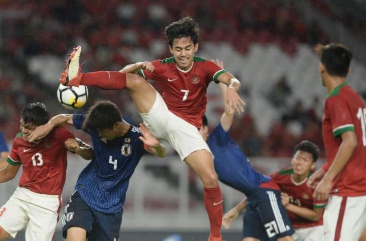
[[[223,197],[214,169],[212,154],[207,150],[191,153],[186,163],[197,173],[204,185],[204,203],[210,220],[209,241],[221,240]]]

